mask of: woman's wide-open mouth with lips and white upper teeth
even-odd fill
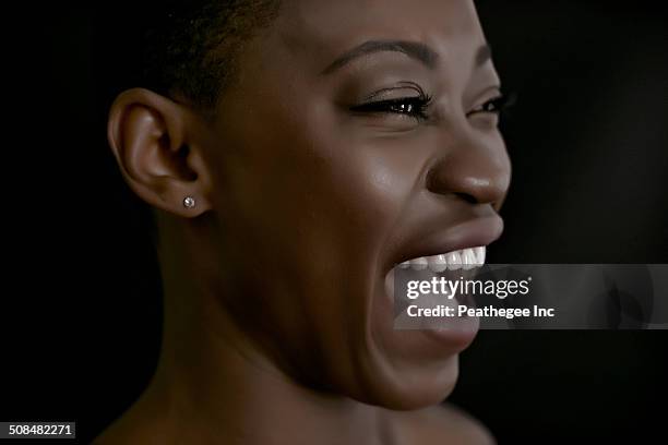
[[[501,236],[503,220],[491,214],[444,228],[425,227],[420,234],[413,234],[418,233],[415,230],[406,237],[386,264],[382,304],[391,309],[383,313],[392,314],[398,341],[418,345],[422,338],[437,339],[443,351],[451,352],[468,345],[478,329],[477,317],[460,315],[457,310],[476,305],[466,284],[482,270],[487,246]],[[407,330],[421,334],[399,334]]]

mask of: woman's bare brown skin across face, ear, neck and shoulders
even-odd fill
[[[399,262],[501,233],[485,47],[467,0],[294,0],[213,121],[117,98],[109,141],[158,209],[166,318],[150,387],[97,443],[491,442],[439,405],[470,338],[394,330],[384,287]]]

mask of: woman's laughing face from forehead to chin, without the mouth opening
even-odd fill
[[[394,330],[385,278],[502,230],[500,84],[473,2],[285,1],[238,63],[205,153],[220,303],[301,382],[441,400],[475,333]]]

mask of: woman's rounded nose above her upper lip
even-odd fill
[[[451,140],[452,141],[452,140]],[[427,173],[427,189],[437,194],[454,194],[472,204],[501,206],[511,179],[511,164],[503,141],[452,142],[441,151]]]

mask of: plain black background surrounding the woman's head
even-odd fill
[[[478,4],[505,88],[518,93],[503,122],[506,231],[488,262],[668,263],[661,2]],[[147,11],[31,3],[4,15],[0,420],[75,420],[82,442],[140,394],[159,346],[148,214],[105,128],[114,94],[134,86]],[[663,437],[667,340],[481,332],[451,400],[501,444]]]

